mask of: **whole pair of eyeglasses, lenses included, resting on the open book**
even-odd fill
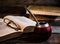
[[[14,23],[12,20],[4,18],[4,22],[7,24],[7,26],[15,29],[16,31],[20,30],[20,26]]]

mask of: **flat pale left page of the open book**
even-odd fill
[[[17,32],[16,30],[8,27],[6,23],[3,22],[3,19],[0,19],[0,37],[9,35],[11,33]]]

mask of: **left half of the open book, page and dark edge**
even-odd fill
[[[0,19],[0,41],[17,37],[19,34],[21,34],[19,31],[8,27],[6,23],[3,22],[3,19]]]

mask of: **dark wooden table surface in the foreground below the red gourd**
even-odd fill
[[[25,36],[26,37],[26,36]],[[52,34],[51,37],[44,42],[37,42],[32,40],[23,39],[24,37],[17,37],[7,41],[0,42],[0,44],[60,44],[60,34]]]

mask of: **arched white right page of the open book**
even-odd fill
[[[24,16],[10,16],[9,15],[9,16],[5,16],[3,19],[5,19],[5,18],[12,20],[15,24],[19,25],[21,32],[23,32],[26,27],[32,28],[32,27],[36,26],[35,21],[32,21],[31,19],[24,17]],[[27,31],[27,32],[29,32],[29,31]]]

